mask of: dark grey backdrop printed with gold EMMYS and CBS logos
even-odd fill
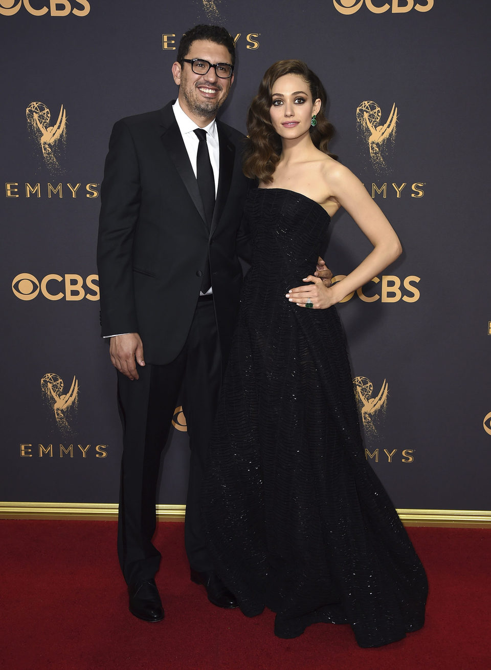
[[[104,157],[114,121],[177,95],[183,32],[218,23],[237,47],[221,118],[244,131],[266,68],[305,60],[328,91],[332,151],[403,243],[339,306],[367,459],[396,507],[490,510],[490,19],[466,0],[0,0],[0,500],[118,499],[95,261]],[[368,251],[336,215],[334,275]],[[164,505],[185,502],[188,458],[177,407]]]

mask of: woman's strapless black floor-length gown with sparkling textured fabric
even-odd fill
[[[290,638],[349,623],[361,647],[423,625],[427,581],[361,442],[336,310],[296,307],[329,216],[293,191],[246,202],[254,255],[203,490],[215,568],[247,616],[276,612]]]

